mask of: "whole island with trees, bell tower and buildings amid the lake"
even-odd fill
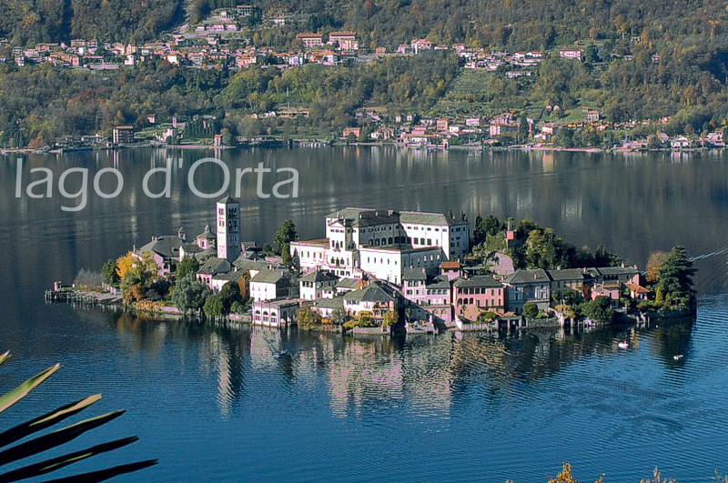
[[[532,327],[600,327],[694,317],[694,269],[684,247],[652,254],[647,270],[604,247],[591,253],[523,219],[347,207],[325,237],[298,239],[286,220],[272,245],[243,241],[240,204],[216,203],[193,239],[152,236],[56,283],[75,300],[211,323],[297,326],[355,334],[434,334]]]

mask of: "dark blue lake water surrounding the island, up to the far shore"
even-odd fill
[[[728,473],[728,163],[717,153],[424,153],[381,147],[225,151],[231,169],[259,162],[298,169],[297,199],[259,199],[243,183],[244,238],[262,244],[286,218],[302,237],[323,236],[343,206],[530,216],[573,243],[603,244],[644,267],[682,244],[700,270],[693,325],[485,337],[352,340],[139,320],[46,305],[54,280],[70,282],[151,236],[188,236],[213,222],[187,166],[208,153],[152,150],[23,156],[56,180],[115,166],[120,196],[15,198],[16,156],[0,157],[0,369],[7,390],[56,362],[63,368],[2,416],[7,428],[102,392],[89,415],[126,408],[73,448],[132,434],[141,440],[76,471],[141,458],[160,464],[119,480],[545,481],[571,462],[580,480],[638,481],[658,465],[681,482]],[[143,176],[175,167],[169,199],[149,199]],[[216,191],[220,171],[200,169]],[[287,177],[287,176],[284,176]],[[108,180],[108,178],[103,178]],[[267,185],[268,190],[272,181]],[[56,181],[57,182],[57,181]],[[106,186],[106,185],[102,185]],[[113,191],[107,188],[106,191]],[[630,348],[617,343],[629,339]],[[286,360],[269,345],[311,347]],[[672,356],[684,354],[680,361]]]

